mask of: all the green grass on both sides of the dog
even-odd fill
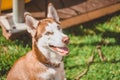
[[[74,80],[86,69],[92,51],[95,51],[94,62],[80,80],[120,80],[120,15],[92,22],[88,26],[72,27],[64,32],[70,37],[70,54],[64,61],[68,80]],[[107,61],[101,61],[96,50],[101,41],[104,42],[101,51]],[[0,80],[5,80],[13,62],[31,49],[29,44],[23,43],[20,40],[6,40],[0,30]]]

